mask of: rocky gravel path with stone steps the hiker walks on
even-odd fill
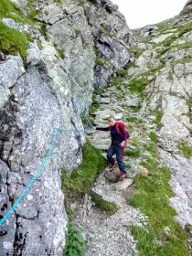
[[[131,133],[131,140],[128,149],[125,151],[129,150],[134,154],[138,151],[135,146],[135,138],[140,144],[149,142],[150,138],[144,130],[147,129],[147,133],[155,131],[155,124],[149,121],[143,123],[139,112],[131,110],[132,107],[138,107],[141,101],[139,95],[130,93],[125,88],[123,90],[125,96],[119,101],[117,100],[118,95],[121,96],[123,91],[118,91],[115,87],[109,88],[107,92],[101,94],[101,97],[97,96],[95,101],[100,103],[100,108],[93,113],[95,116],[94,123],[105,127],[108,125],[106,119],[113,115],[117,120],[126,123],[129,128],[133,128],[132,131],[128,129]],[[126,106],[129,106],[128,108],[123,108],[125,101]],[[134,121],[136,120],[137,124],[132,123],[133,127],[131,127],[131,123],[126,121],[128,117],[133,118]],[[111,143],[110,133],[97,131],[89,135],[88,138],[92,144],[103,150],[103,155],[105,156],[105,151]],[[139,209],[132,208],[128,201],[133,196],[133,178],[138,174],[144,174],[144,167],[139,163],[144,159],[145,155],[148,155],[148,153],[143,150],[138,158],[125,156],[126,179],[121,181],[116,178],[114,174],[119,173],[118,167],[112,173],[107,167],[91,188],[93,195],[100,197],[104,203],[109,202],[117,207],[115,213],[108,213],[98,209],[95,207],[94,199],[92,200],[91,196],[88,195],[84,197],[84,202],[80,208],[77,205],[73,206],[76,213],[78,212],[76,217],[80,219],[80,225],[88,243],[87,256],[131,256],[137,254],[136,241],[133,239],[129,227],[133,225],[146,226],[148,219]]]

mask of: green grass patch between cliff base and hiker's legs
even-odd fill
[[[63,190],[69,190],[72,193],[88,193],[91,185],[101,170],[106,167],[107,161],[101,155],[101,150],[91,145],[89,141],[82,148],[83,161],[74,169],[71,176],[68,176],[65,170],[62,170]]]

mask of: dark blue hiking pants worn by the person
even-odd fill
[[[110,164],[114,164],[114,158],[112,155],[116,154],[117,158],[117,163],[121,171],[126,174],[126,170],[124,168],[124,163],[123,163],[123,147],[121,145],[114,145],[111,144],[107,151],[107,159],[110,162]]]

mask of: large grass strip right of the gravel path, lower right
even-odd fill
[[[157,155],[157,152],[155,153]],[[158,160],[147,157],[141,163],[149,170],[149,176],[137,176],[135,194],[130,200],[133,208],[140,208],[149,217],[149,226],[133,227],[132,233],[142,256],[189,255],[185,243],[187,235],[175,220],[176,211],[169,205],[174,193],[169,186],[170,170],[158,165]],[[165,232],[165,227],[170,232]]]

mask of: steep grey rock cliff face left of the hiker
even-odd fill
[[[129,60],[129,28],[110,1],[14,1],[30,19],[4,2],[1,29],[30,38],[23,59],[24,45],[16,56],[16,43],[0,47],[1,219],[36,175],[54,128],[82,130],[80,108],[87,112],[94,84],[103,86]],[[1,226],[1,255],[62,255],[68,219],[60,169],[80,164],[84,142],[83,133],[58,131],[42,173]]]

